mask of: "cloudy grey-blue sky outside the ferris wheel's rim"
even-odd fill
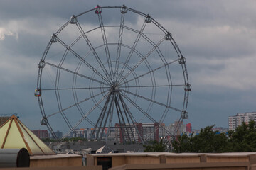
[[[228,116],[256,111],[256,1],[0,0],[1,114],[18,113],[31,129],[41,113],[33,96],[50,35],[73,14],[97,4],[149,13],[169,30],[186,57],[193,128],[228,128]]]

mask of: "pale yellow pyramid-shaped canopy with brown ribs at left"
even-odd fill
[[[30,155],[55,154],[31,132],[15,115],[0,126],[0,148],[26,148]]]

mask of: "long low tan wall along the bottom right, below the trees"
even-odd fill
[[[195,169],[255,169],[256,152],[245,153],[124,153],[124,154],[87,154],[87,165],[97,165],[98,157],[111,157],[112,168],[123,167],[124,165],[138,165],[145,168],[159,165],[172,166],[171,169],[187,169],[188,165],[194,165]],[[151,166],[151,165],[152,166]],[[165,165],[163,165],[165,164]],[[142,165],[142,166],[141,166]],[[129,166],[129,168],[134,167]],[[128,169],[128,166],[125,166]],[[187,167],[187,168],[186,168]]]

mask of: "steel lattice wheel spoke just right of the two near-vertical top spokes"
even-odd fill
[[[133,45],[132,45],[132,49],[130,50],[129,55],[128,55],[127,58],[126,58],[126,60],[125,60],[125,62],[124,62],[124,65],[122,66],[122,69],[121,69],[121,71],[120,71],[120,75],[122,75],[122,74],[124,73],[124,69],[127,67],[127,64],[128,64],[129,60],[130,60],[131,57],[132,57],[132,54],[133,54],[133,52],[134,52],[134,49],[137,47],[137,44],[138,44],[138,42],[139,42],[139,39],[142,37],[142,33],[143,33],[145,27],[146,27],[146,21],[144,21],[144,23],[143,23],[143,25],[142,25],[142,28],[139,30],[139,33],[138,33],[138,35],[137,35],[137,38],[136,38],[136,40],[134,41],[134,43],[133,43]],[[119,79],[117,79],[117,82],[120,81],[120,79],[121,79],[121,77],[119,77]]]

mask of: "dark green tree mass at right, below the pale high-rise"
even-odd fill
[[[256,152],[256,123],[242,123],[228,135],[213,131],[213,126],[201,129],[198,135],[183,134],[171,142],[173,152]]]

